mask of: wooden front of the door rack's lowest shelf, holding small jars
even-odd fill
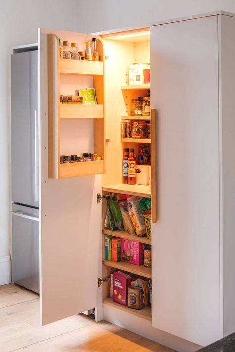
[[[104,160],[59,164],[59,178],[97,175],[104,173]]]

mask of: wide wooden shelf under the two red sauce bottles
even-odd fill
[[[103,186],[102,190],[105,192],[121,193],[124,195],[151,197],[149,185],[124,185],[123,183],[117,185]]]

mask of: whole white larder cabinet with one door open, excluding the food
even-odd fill
[[[178,338],[207,345],[235,330],[235,17],[195,16],[150,32],[151,40],[149,27],[101,34],[101,61],[74,62],[59,59],[58,38],[93,36],[39,31],[41,316],[47,324],[97,308],[97,320],[195,351]],[[120,134],[121,121],[133,118],[130,101],[150,90],[128,86],[133,62],[151,62],[147,141]],[[98,104],[60,105],[59,94],[78,85],[94,87]],[[122,150],[141,142],[151,149],[151,190],[122,184]],[[60,164],[71,148],[102,159]],[[105,234],[130,236],[103,229],[97,195],[110,192],[151,197],[152,271],[104,260]],[[112,268],[152,279],[152,311],[112,302],[109,284],[98,285]]]

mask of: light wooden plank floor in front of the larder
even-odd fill
[[[39,296],[20,286],[0,286],[0,352],[173,352],[106,321],[78,314],[41,327]]]

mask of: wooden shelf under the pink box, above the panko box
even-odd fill
[[[147,277],[148,279],[152,278],[151,268],[146,268],[144,265],[135,265],[135,264],[126,263],[125,261],[115,262],[115,261],[109,261],[109,260],[103,260],[103,264],[118,270],[123,270],[135,275]]]

